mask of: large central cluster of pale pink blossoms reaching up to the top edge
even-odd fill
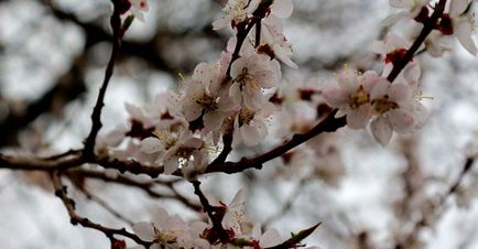
[[[135,4],[131,1],[130,11],[138,10]],[[232,148],[262,142],[276,110],[270,98],[282,77],[280,62],[296,68],[280,21],[292,10],[291,0],[228,1],[213,24],[230,24],[235,31],[219,61],[200,63],[178,89],[151,105],[128,105],[130,123],[100,139],[97,150],[163,166],[165,174],[181,170],[188,175],[205,170],[226,137],[232,138]]]

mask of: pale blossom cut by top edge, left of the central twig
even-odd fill
[[[214,30],[220,30],[229,24],[232,26],[252,15],[261,0],[228,0],[222,8],[224,15],[213,22]]]

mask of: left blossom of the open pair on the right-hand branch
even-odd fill
[[[362,129],[372,113],[370,89],[379,79],[374,72],[360,75],[345,69],[336,76],[338,87],[325,88],[322,94],[332,107],[337,107],[336,117],[347,115],[347,124],[352,129]]]

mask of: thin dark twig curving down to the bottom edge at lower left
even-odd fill
[[[140,237],[127,231],[124,228],[121,228],[121,229],[108,228],[108,227],[105,227],[100,224],[94,223],[86,217],[83,217],[83,216],[79,216],[78,214],[76,214],[75,202],[67,196],[67,193],[66,193],[67,188],[63,184],[62,176],[61,176],[59,172],[54,171],[51,176],[52,176],[53,187],[55,190],[55,195],[62,199],[63,205],[65,206],[66,210],[68,212],[68,215],[70,218],[69,221],[72,223],[72,225],[82,225],[83,227],[86,227],[86,228],[99,230],[99,231],[104,232],[110,239],[113,239],[115,235],[120,235],[120,236],[132,239],[134,242],[137,242],[139,245],[143,245],[145,248],[149,248],[149,246],[152,245],[152,242],[143,241],[142,239],[140,239]]]

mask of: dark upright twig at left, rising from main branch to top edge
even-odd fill
[[[105,71],[105,78],[102,82],[102,85],[99,89],[98,98],[96,100],[96,105],[93,109],[91,113],[91,130],[88,134],[88,137],[85,140],[85,149],[84,149],[84,158],[87,161],[90,161],[95,156],[95,142],[96,137],[98,134],[98,131],[101,129],[101,109],[105,106],[104,99],[106,95],[106,90],[108,88],[109,80],[112,76],[113,68],[115,68],[115,59],[119,53],[119,50],[121,47],[121,18],[120,18],[120,3],[117,3],[113,1],[113,13],[110,19],[110,24],[112,29],[112,51],[111,51],[111,57],[108,62],[108,65]]]

